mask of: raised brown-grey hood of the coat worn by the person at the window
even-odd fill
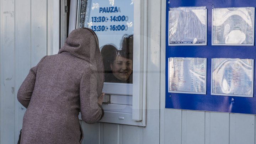
[[[89,28],[73,30],[58,53],[62,52],[73,54],[92,65],[93,72],[98,76],[97,92],[99,96],[104,82],[104,67],[96,33]]]

